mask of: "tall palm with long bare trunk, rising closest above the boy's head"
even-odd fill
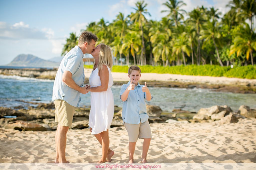
[[[150,15],[149,12],[147,12],[147,9],[146,6],[147,6],[147,3],[145,3],[144,1],[138,1],[135,3],[136,7],[137,8],[133,8],[136,10],[135,13],[131,13],[130,15],[130,20],[133,21],[134,23],[138,22],[139,23],[139,26],[141,28],[141,39],[142,39],[142,50],[141,50],[141,59],[142,61],[145,61],[143,60],[143,56],[144,58],[146,58],[146,54],[145,54],[145,42],[144,42],[144,34],[143,34],[143,23],[145,23],[147,20],[145,18],[144,15]],[[141,63],[143,65],[143,63]],[[146,63],[144,63],[146,64]]]

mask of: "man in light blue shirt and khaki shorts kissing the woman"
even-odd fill
[[[56,108],[55,122],[58,122],[55,135],[55,163],[59,163],[59,165],[68,163],[65,156],[67,132],[72,125],[75,108],[81,101],[80,93],[88,93],[86,89],[89,86],[83,87],[83,57],[86,53],[92,53],[97,39],[97,36],[91,32],[82,32],[78,45],[64,56],[55,77],[52,100]]]

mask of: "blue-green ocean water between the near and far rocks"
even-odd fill
[[[54,80],[41,80],[29,77],[0,75],[0,106],[14,108],[16,106],[34,106],[31,102],[51,102]],[[115,105],[122,107],[119,98],[121,86],[112,86]],[[198,111],[203,107],[214,105],[228,105],[233,110],[239,106],[247,105],[256,109],[256,94],[236,94],[215,92],[210,89],[183,89],[149,87],[153,99],[147,104],[160,106],[164,111],[175,108]],[[90,106],[90,93],[81,94],[80,107]]]

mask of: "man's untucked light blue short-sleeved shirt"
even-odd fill
[[[84,82],[83,57],[83,52],[78,46],[72,48],[64,56],[55,76],[52,101],[61,99],[74,107],[79,106],[79,102],[81,101],[80,92],[68,87],[62,81],[62,75],[64,71],[70,71],[72,73],[72,79],[78,86],[82,87]]]

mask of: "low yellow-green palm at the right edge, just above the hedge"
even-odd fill
[[[251,63],[253,65],[253,49],[256,51],[256,33],[252,32],[249,24],[245,24],[245,28],[238,33],[238,36],[234,38],[234,44],[230,47],[230,54],[232,55],[237,52],[237,57],[246,53],[246,59],[249,60],[249,55],[251,56]]]

